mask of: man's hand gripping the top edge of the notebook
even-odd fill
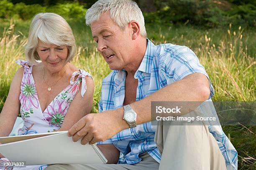
[[[82,145],[105,141],[122,130],[122,117],[117,110],[88,114],[69,129],[68,136],[74,142],[82,139]]]

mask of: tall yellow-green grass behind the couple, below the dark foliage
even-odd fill
[[[78,53],[72,63],[93,75],[95,94],[92,112],[98,112],[102,78],[111,71],[92,41],[84,20],[68,20],[77,40]],[[17,20],[0,25],[0,110],[18,65],[25,59],[30,21]],[[7,28],[4,30],[4,28]],[[215,88],[214,101],[256,101],[256,33],[255,29],[232,25],[227,28],[204,29],[195,26],[146,26],[148,37],[155,44],[170,42],[190,47],[204,65]],[[238,151],[238,169],[256,169],[256,127],[223,126]]]

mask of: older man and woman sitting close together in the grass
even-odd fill
[[[131,0],[98,0],[86,23],[113,70],[102,80],[100,114],[89,114],[90,74],[69,63],[75,48],[69,25],[59,15],[38,14],[26,46],[28,61],[18,61],[23,67],[0,114],[0,136],[10,133],[20,112],[25,122],[20,135],[69,130],[74,142],[97,143],[108,159],[46,170],[237,169],[237,152],[221,126],[152,125],[151,101],[211,101],[212,84],[192,50],[154,45]]]

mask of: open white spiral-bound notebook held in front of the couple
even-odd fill
[[[11,161],[25,161],[26,165],[107,163],[96,145],[80,142],[73,142],[67,131],[0,137],[0,143],[4,143],[0,153]]]

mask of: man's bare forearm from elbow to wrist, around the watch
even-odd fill
[[[137,124],[151,121],[151,101],[205,101],[210,95],[209,81],[201,73],[188,75],[182,80],[167,85],[142,100],[131,103],[137,113]],[[129,128],[123,117],[123,107],[115,110],[122,130]]]

